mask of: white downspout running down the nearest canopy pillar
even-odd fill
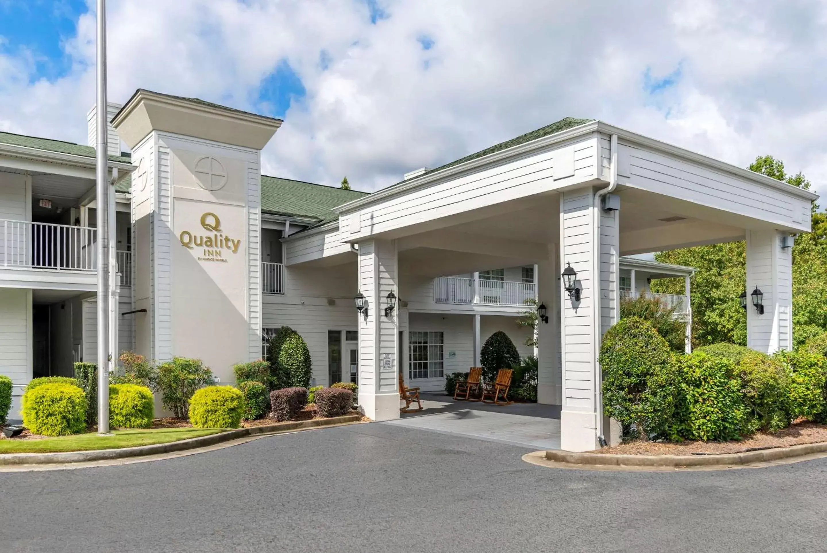
[[[597,435],[603,436],[603,371],[600,370],[600,340],[603,334],[600,332],[602,326],[600,320],[600,217],[603,209],[600,201],[603,196],[614,192],[618,185],[618,135],[611,136],[609,146],[609,185],[602,190],[598,190],[595,194],[594,211],[595,214],[595,228],[593,236],[593,244],[591,253],[591,275],[592,275],[592,301],[591,311],[593,334],[593,344],[595,344],[595,416],[597,418],[595,428]]]

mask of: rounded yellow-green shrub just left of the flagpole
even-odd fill
[[[24,394],[23,425],[32,434],[78,434],[86,430],[86,409],[86,395],[74,384],[43,384]]]

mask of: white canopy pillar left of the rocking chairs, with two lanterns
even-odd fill
[[[399,296],[396,243],[368,240],[359,243],[359,291],[366,297],[366,313],[359,317],[359,405],[374,421],[399,418],[399,311],[385,316],[386,297]]]

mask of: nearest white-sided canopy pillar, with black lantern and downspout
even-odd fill
[[[581,289],[580,301],[575,301],[561,286],[560,441],[562,449],[569,451],[595,450],[598,435],[602,433],[611,442],[616,434],[602,413],[597,355],[602,334],[614,325],[619,313],[619,212],[595,209],[596,190],[571,190],[560,198],[560,266],[571,263]],[[595,244],[597,217],[599,244]],[[598,274],[595,254],[599,254]]]

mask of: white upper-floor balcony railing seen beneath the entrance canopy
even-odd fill
[[[433,300],[450,304],[525,305],[527,300],[536,297],[533,282],[480,279],[478,291],[474,289],[474,282],[473,278],[440,276],[433,281]]]

